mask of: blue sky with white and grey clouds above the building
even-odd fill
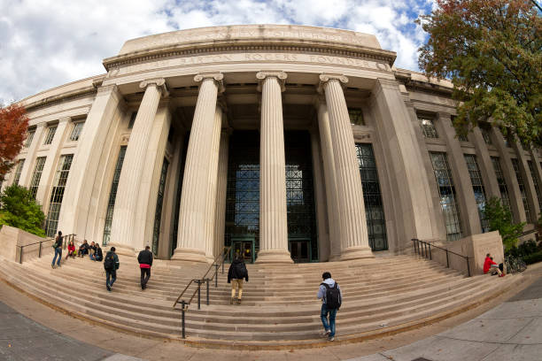
[[[0,0],[0,104],[105,73],[128,39],[193,27],[299,24],[374,34],[417,69],[432,0]]]

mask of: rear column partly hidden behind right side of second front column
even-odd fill
[[[213,140],[211,142],[211,161],[209,162],[209,177],[207,180],[207,202],[205,204],[205,257],[211,263],[214,261],[214,230],[216,219],[218,185],[219,151],[221,145],[222,108],[216,106],[214,111]]]

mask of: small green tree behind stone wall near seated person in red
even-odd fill
[[[500,203],[499,197],[492,196],[485,203],[484,217],[488,221],[490,231],[499,231],[505,251],[515,247],[523,233],[525,223],[514,223],[512,212]]]

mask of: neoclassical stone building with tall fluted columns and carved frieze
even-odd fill
[[[31,127],[4,187],[32,190],[50,235],[201,262],[224,245],[273,263],[457,240],[487,230],[490,196],[532,224],[538,153],[495,127],[456,137],[451,84],[395,58],[320,27],[130,40],[105,74],[20,102]]]

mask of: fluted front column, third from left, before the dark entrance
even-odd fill
[[[259,252],[256,263],[293,263],[288,251],[283,81],[286,73],[259,72]]]

